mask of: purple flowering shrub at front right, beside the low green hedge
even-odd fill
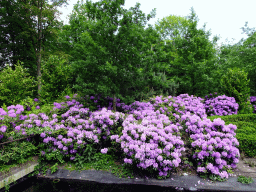
[[[187,113],[181,117],[182,125],[189,133],[193,158],[197,160],[199,174],[214,174],[221,179],[227,179],[227,170],[236,168],[239,162],[239,145],[235,138],[235,125],[225,126],[220,118],[211,122],[201,120],[195,115]]]

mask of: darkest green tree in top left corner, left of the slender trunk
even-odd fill
[[[15,65],[18,60],[25,61],[25,68],[32,68],[35,63],[35,53],[31,44],[31,37],[27,34],[29,27],[34,27],[32,20],[26,16],[27,10],[21,4],[11,1],[1,1],[1,19],[0,19],[0,42],[2,62],[1,67],[5,64]]]

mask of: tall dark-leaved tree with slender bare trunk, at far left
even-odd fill
[[[52,2],[52,5],[48,5],[48,0],[4,0],[0,4],[2,7],[1,15],[3,15],[1,30],[6,34],[5,37],[4,35],[1,36],[1,42],[7,45],[1,51],[8,52],[9,55],[14,50],[22,53],[15,59],[24,61],[24,65],[28,67],[30,74],[37,76],[39,98],[41,91],[41,56],[45,53],[46,47],[49,47],[46,39],[49,41],[56,38],[55,28],[56,25],[60,25],[60,22],[54,20],[55,13],[58,12],[54,7],[66,3],[67,0],[52,0]],[[12,16],[15,16],[14,19]],[[21,28],[15,27],[20,21],[22,21]],[[47,25],[44,25],[44,23],[47,23]],[[15,30],[10,30],[13,26]],[[9,40],[6,38],[8,36],[10,36]],[[12,46],[8,46],[10,41],[12,41]],[[24,48],[24,45],[27,49]],[[6,54],[4,53],[4,56]],[[30,58],[32,58],[32,61],[29,63]],[[13,62],[14,68],[15,61]],[[34,63],[37,63],[37,65],[35,66]]]

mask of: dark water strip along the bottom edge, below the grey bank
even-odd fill
[[[77,180],[55,180],[24,177],[17,181],[17,184],[11,184],[9,192],[180,192],[186,190],[176,190],[170,187],[145,186],[145,185],[117,185],[117,184],[99,184]],[[2,188],[0,192],[5,192]]]

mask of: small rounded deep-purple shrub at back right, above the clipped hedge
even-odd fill
[[[207,116],[237,114],[238,104],[233,97],[218,96],[205,101]]]

